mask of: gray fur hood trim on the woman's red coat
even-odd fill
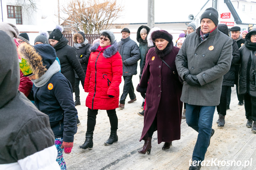
[[[90,51],[91,52],[95,52],[98,51],[98,47],[99,47],[100,43],[95,43],[93,46],[91,46]],[[117,41],[115,41],[110,47],[106,48],[103,51],[103,56],[105,58],[110,58],[111,56],[115,55],[119,50],[119,44],[117,43]]]

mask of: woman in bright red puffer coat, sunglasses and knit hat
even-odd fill
[[[79,148],[93,148],[93,131],[98,109],[106,110],[110,121],[110,136],[104,145],[117,142],[117,115],[119,103],[119,85],[123,75],[123,61],[118,52],[119,46],[115,35],[109,30],[101,33],[100,42],[91,48],[88,61],[85,92],[89,92],[85,105],[88,107],[87,131],[85,143]]]

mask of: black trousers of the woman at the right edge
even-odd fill
[[[248,93],[244,95],[244,109],[246,119],[252,118],[256,122],[256,98]]]

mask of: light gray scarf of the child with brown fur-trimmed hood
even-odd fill
[[[43,87],[46,85],[46,83],[50,80],[50,78],[57,72],[61,70],[61,67],[57,60],[53,62],[52,65],[50,65],[49,69],[36,80],[31,80],[36,87]]]

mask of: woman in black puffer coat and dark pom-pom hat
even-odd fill
[[[77,73],[82,85],[85,82],[85,73],[78,60],[77,53],[73,47],[68,45],[68,40],[62,34],[63,27],[57,25],[49,35],[50,45],[56,51],[57,57],[61,63],[61,73],[69,80],[74,91],[75,72]]]

